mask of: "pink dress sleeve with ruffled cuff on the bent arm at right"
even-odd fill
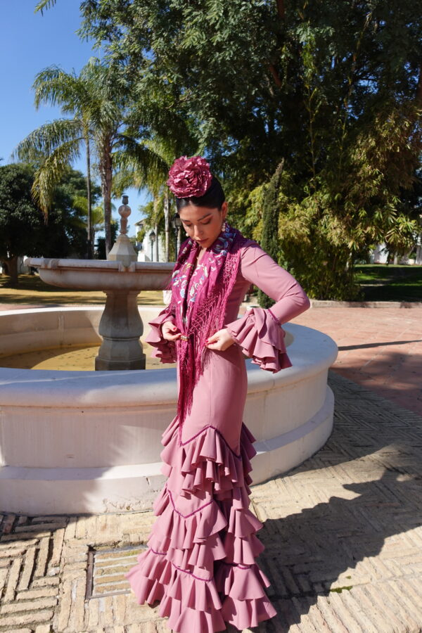
[[[241,319],[226,325],[243,353],[267,371],[280,371],[291,362],[281,324],[310,306],[305,291],[295,278],[258,245],[246,246],[241,255],[241,274],[276,303],[271,309],[251,308]]]

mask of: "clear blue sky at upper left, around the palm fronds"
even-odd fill
[[[11,153],[22,139],[43,123],[60,117],[58,108],[34,108],[31,86],[39,70],[52,64],[76,72],[96,51],[81,41],[79,0],[58,0],[56,6],[34,13],[37,0],[14,0],[1,3],[0,38],[0,165],[11,162]],[[73,165],[84,172],[84,156]],[[132,215],[129,224],[141,219],[138,207],[148,199],[135,189],[127,191]],[[117,206],[120,200],[116,201]],[[118,216],[117,216],[118,217]],[[133,230],[130,231],[134,233]]]

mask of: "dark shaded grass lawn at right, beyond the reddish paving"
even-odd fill
[[[422,301],[422,266],[359,264],[356,271],[366,301]]]

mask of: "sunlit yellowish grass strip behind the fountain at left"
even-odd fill
[[[19,275],[18,288],[8,285],[9,278],[0,276],[0,305],[104,305],[106,295],[101,290],[69,290],[47,286],[38,275]],[[162,292],[159,290],[144,290],[139,293],[138,303],[162,305]]]

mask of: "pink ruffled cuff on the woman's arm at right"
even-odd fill
[[[243,353],[261,369],[275,373],[292,366],[284,343],[286,332],[270,310],[251,308],[226,328]]]

